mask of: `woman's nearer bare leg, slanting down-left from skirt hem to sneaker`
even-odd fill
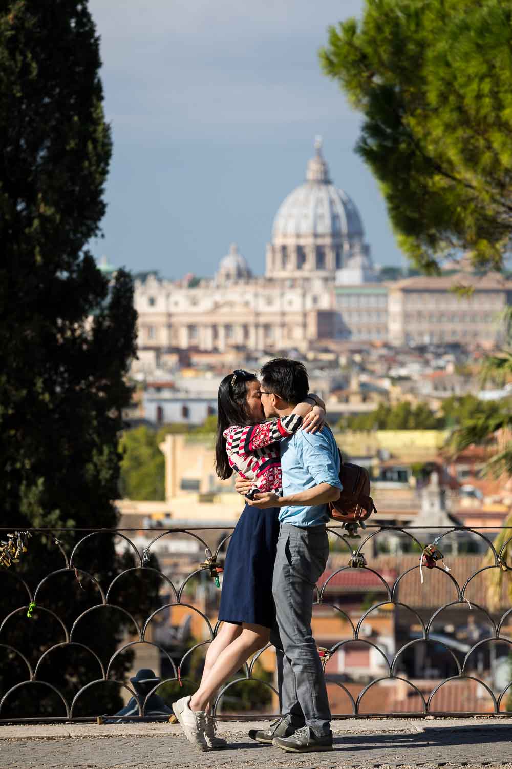
[[[269,628],[246,623],[242,627],[238,637],[220,652],[206,677],[203,675],[199,689],[190,700],[190,710],[205,710],[224,681],[269,642]]]

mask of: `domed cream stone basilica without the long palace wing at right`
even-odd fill
[[[361,217],[332,183],[317,139],[306,180],[276,213],[265,275],[254,276],[232,244],[216,274],[193,287],[156,275],[136,281],[138,346],[306,351],[345,333],[336,288],[377,280]]]

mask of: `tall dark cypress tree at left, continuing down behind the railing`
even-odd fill
[[[85,0],[0,2],[0,484],[2,525],[13,529],[109,528],[118,520],[117,442],[121,410],[130,403],[136,313],[130,275],[118,270],[109,282],[87,249],[99,234],[111,158],[99,68]],[[57,534],[68,555],[84,536]],[[81,544],[74,565],[106,591],[134,559],[101,534]],[[31,538],[18,564],[0,569],[2,618],[28,604],[16,577],[34,591],[57,572],[41,585],[33,618],[26,608],[18,611],[0,634],[0,644],[17,648],[33,667],[43,651],[64,641],[44,608],[70,631],[82,611],[101,604],[94,581],[65,567],[53,537],[44,534]],[[155,586],[146,581],[141,590],[138,572],[130,579],[130,590],[120,581],[112,598],[141,618]],[[119,612],[98,610],[75,628],[74,640],[97,651],[106,667],[130,624]],[[117,657],[110,677],[123,680],[132,656]],[[1,697],[28,673],[14,652],[2,647],[0,657]],[[52,651],[38,671],[69,702],[99,677],[93,655],[70,646]],[[84,692],[75,714],[112,712],[121,704],[116,687],[97,687]],[[2,707],[2,717],[31,715],[65,712],[38,684],[19,688]]]

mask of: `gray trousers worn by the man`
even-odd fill
[[[325,678],[312,635],[315,584],[329,557],[325,526],[281,524],[272,592],[281,713],[296,727],[305,724],[319,737],[329,734],[331,711]]]

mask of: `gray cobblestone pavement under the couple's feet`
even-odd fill
[[[510,718],[337,721],[332,752],[302,755],[249,740],[254,726],[219,724],[230,744],[208,753],[170,724],[0,726],[0,769],[512,769]]]

